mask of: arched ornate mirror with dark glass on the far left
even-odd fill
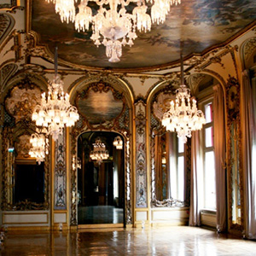
[[[31,158],[31,115],[41,90],[24,79],[7,93],[3,108],[2,210],[49,209],[49,156]]]

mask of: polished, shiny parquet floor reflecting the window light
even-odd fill
[[[195,227],[7,232],[1,255],[256,255],[256,241]]]

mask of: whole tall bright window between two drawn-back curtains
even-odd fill
[[[216,209],[216,178],[215,178],[215,160],[213,145],[213,119],[212,102],[204,104],[204,112],[207,124],[203,127],[203,157],[204,157],[204,207],[207,209]]]

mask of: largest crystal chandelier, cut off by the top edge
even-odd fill
[[[151,20],[159,25],[164,23],[171,5],[181,3],[181,0],[80,0],[78,9],[74,3],[78,0],[45,0],[55,3],[55,12],[61,16],[61,21],[74,22],[78,32],[92,28],[91,39],[98,47],[106,46],[106,55],[110,62],[118,62],[122,55],[122,46],[133,45],[137,38],[136,29],[139,32],[151,30]],[[89,2],[95,2],[99,9],[95,10],[88,6]],[[130,3],[137,3],[133,8]],[[151,5],[151,18],[147,14],[148,6]],[[108,5],[108,8],[106,7]],[[125,7],[132,13],[126,13]]]

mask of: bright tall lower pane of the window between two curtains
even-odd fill
[[[205,207],[216,209],[214,152],[205,154]]]

